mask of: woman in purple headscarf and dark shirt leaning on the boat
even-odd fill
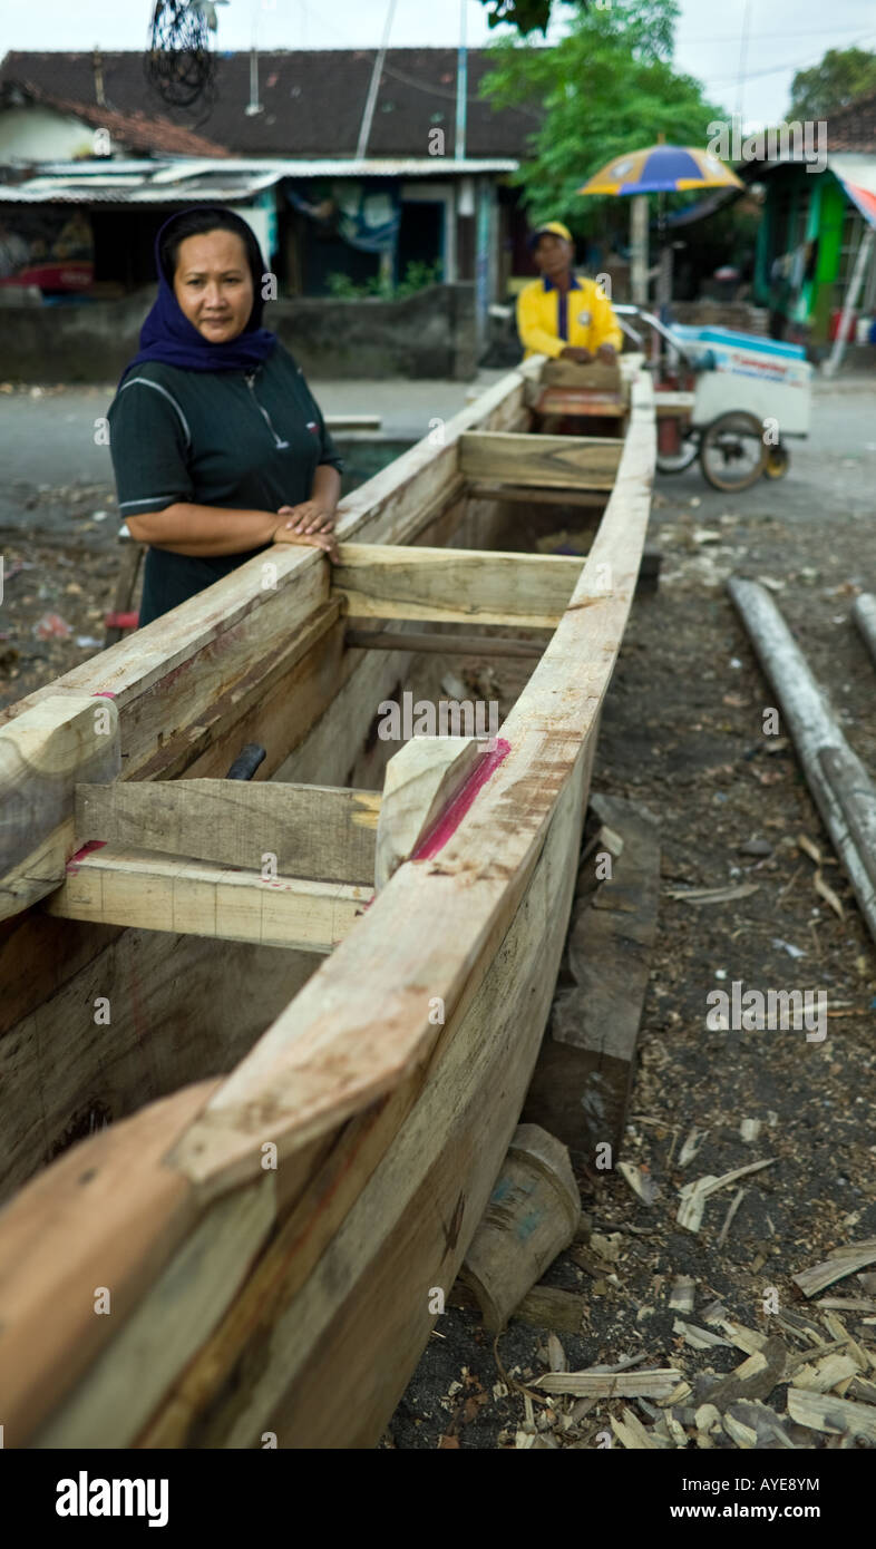
[[[270,544],[335,558],[341,460],[301,367],[262,328],[265,266],[234,211],[155,239],[158,299],[109,410],[119,513],[146,553],[140,624]]]

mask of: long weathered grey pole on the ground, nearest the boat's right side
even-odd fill
[[[806,784],[876,940],[876,785],[764,587],[730,576],[727,590],[775,689]]]

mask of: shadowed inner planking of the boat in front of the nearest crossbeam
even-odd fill
[[[318,963],[251,943],[22,917],[0,962],[0,1205],[102,1123],[233,1070]]]

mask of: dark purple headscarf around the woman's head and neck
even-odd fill
[[[172,276],[164,273],[161,265],[161,243],[167,229],[183,215],[217,214],[240,226],[240,237],[247,248],[247,259],[253,274],[253,310],[242,333],[236,339],[212,344],[198,333],[194,322],[189,322],[174,293]],[[276,333],[262,328],[262,282],[265,263],[262,249],[256,240],[253,228],[242,220],[236,211],[222,204],[195,204],[192,209],[177,211],[164,222],[155,237],[155,273],[158,274],[158,297],[140,330],[140,352],[130,359],[119,376],[119,387],[127,373],[143,361],[164,361],[167,366],[181,366],[189,372],[243,372],[250,366],[257,366],[273,350]],[[118,390],[118,389],[116,389]]]

